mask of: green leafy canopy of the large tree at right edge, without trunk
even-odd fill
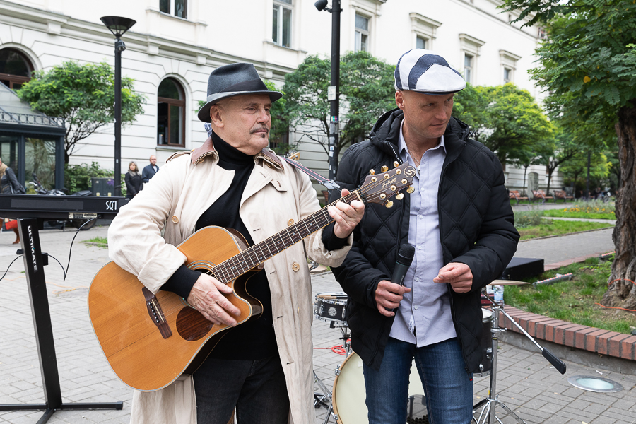
[[[550,92],[551,112],[567,110],[570,121],[594,114],[605,127],[620,107],[635,107],[636,3],[632,0],[504,0],[517,20],[548,27],[536,54],[541,67],[531,74]],[[567,100],[567,102],[565,102]],[[609,124],[609,125],[608,125]]]

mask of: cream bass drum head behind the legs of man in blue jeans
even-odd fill
[[[415,362],[411,366],[408,396],[424,395],[424,387],[420,381]],[[357,353],[351,353],[340,367],[333,390],[334,413],[338,416],[338,424],[368,424],[367,404],[365,403],[365,375],[363,362]],[[405,404],[406,407],[406,404]]]

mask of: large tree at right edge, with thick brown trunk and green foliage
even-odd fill
[[[596,115],[618,136],[620,175],[613,240],[616,259],[603,305],[636,309],[636,2],[633,0],[504,0],[517,21],[546,25],[536,50],[538,85],[560,100],[570,123]],[[577,118],[577,119],[574,119]]]

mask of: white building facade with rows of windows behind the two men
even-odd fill
[[[528,70],[536,66],[538,28],[520,28],[498,0],[342,0],[341,52],[365,49],[395,64],[408,49],[434,49],[473,85],[505,82],[539,98]],[[330,5],[331,6],[331,2]],[[122,170],[157,155],[159,165],[175,151],[206,139],[196,119],[208,76],[218,66],[252,62],[263,78],[282,86],[285,74],[308,54],[331,54],[331,14],[314,0],[0,0],[0,57],[22,60],[30,70],[69,59],[114,64],[114,37],[101,16],[136,20],[122,37],[122,75],[146,96],[144,113],[122,130]],[[4,56],[3,56],[4,52]],[[19,58],[19,59],[16,59]],[[0,66],[2,63],[0,63]],[[20,76],[0,80],[19,88]],[[13,87],[13,85],[16,87]],[[290,139],[295,139],[290,129]],[[327,174],[321,146],[298,146],[305,165]],[[98,161],[113,167],[114,131],[109,126],[84,140],[71,163]],[[524,170],[505,170],[510,187],[522,187]],[[125,171],[124,171],[125,172]],[[538,172],[541,185],[545,167]],[[556,177],[551,187],[560,188]],[[317,186],[319,189],[319,186]]]

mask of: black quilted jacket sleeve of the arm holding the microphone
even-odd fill
[[[342,161],[338,167],[337,182],[343,189],[355,190],[358,188],[360,172],[356,164],[360,163],[356,149],[349,148],[343,155]],[[331,199],[333,197],[333,199]],[[335,194],[331,193],[330,201],[335,200]],[[360,225],[353,230],[353,245],[347,254],[347,257],[341,266],[332,268],[336,280],[342,286],[343,290],[356,302],[367,305],[372,309],[376,309],[375,289],[382,280],[389,280],[389,276],[385,275],[379,269],[376,269],[360,250]]]

